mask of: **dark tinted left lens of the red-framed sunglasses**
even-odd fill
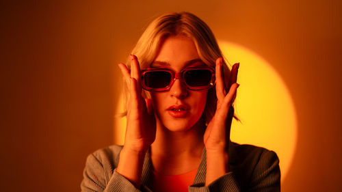
[[[171,82],[171,74],[167,71],[150,71],[144,75],[146,87],[153,89],[167,87]]]

